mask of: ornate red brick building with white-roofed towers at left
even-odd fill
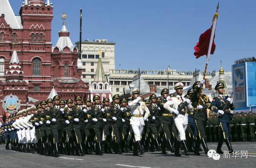
[[[70,41],[65,22],[57,44],[52,46],[52,9],[49,0],[25,0],[20,16],[15,16],[9,1],[1,0],[0,99],[15,95],[21,100],[20,109],[45,100],[53,86],[61,99],[88,97],[78,50]],[[2,102],[0,116],[4,116]]]

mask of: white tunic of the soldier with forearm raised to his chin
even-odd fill
[[[146,107],[145,102],[141,102],[140,105],[137,103],[138,99],[128,102],[128,106],[130,106],[131,110],[131,115],[143,115],[145,113],[144,118],[147,119],[150,112],[148,110],[148,107]],[[145,125],[143,117],[131,117],[130,125],[136,125],[139,127],[140,124]]]

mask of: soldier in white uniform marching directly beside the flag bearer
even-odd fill
[[[186,131],[186,128],[187,128],[187,125],[188,125],[187,110],[189,110],[190,112],[193,112],[194,108],[193,108],[192,103],[190,102],[190,100],[188,98],[184,98],[182,96],[183,87],[184,87],[184,85],[181,82],[175,84],[174,88],[176,90],[177,96],[172,97],[172,98],[168,97],[167,99],[169,99],[169,101],[167,101],[163,105],[163,107],[166,110],[168,110],[170,113],[173,113],[175,115],[175,117],[173,119],[174,119],[175,125],[177,127],[177,130],[179,131],[177,142],[176,142],[176,147],[175,147],[175,155],[176,156],[181,156],[180,153],[179,153],[181,142],[182,142],[182,145],[183,145],[183,148],[184,148],[184,151],[185,151],[185,155],[186,156],[190,155],[189,149],[188,149],[187,143],[186,143],[185,131]],[[185,114],[181,114],[178,111],[178,105],[181,104],[181,103],[186,104],[185,107],[182,109],[183,113],[185,113]]]

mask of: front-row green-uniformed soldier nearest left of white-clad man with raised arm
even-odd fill
[[[114,105],[111,105],[110,108],[107,110],[107,115],[110,119],[113,119],[114,122],[112,122],[112,128],[113,128],[113,134],[115,136],[115,147],[113,147],[114,149],[116,148],[115,153],[117,154],[122,154],[122,150],[121,150],[121,144],[120,144],[120,139],[122,137],[122,127],[123,127],[123,123],[125,122],[124,119],[122,119],[122,116],[117,116],[117,114],[119,113],[119,110],[122,110],[124,108],[119,106],[119,96],[118,95],[114,95],[112,97],[112,100],[115,102]]]

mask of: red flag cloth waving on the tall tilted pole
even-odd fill
[[[194,55],[196,56],[196,58],[199,58],[203,55],[207,56],[211,34],[212,34],[212,26],[210,29],[208,29],[207,31],[205,31],[203,34],[200,35],[199,42],[196,43],[196,46],[194,47],[195,49]],[[215,51],[214,38],[215,38],[215,34],[212,41],[211,54],[213,54]]]

